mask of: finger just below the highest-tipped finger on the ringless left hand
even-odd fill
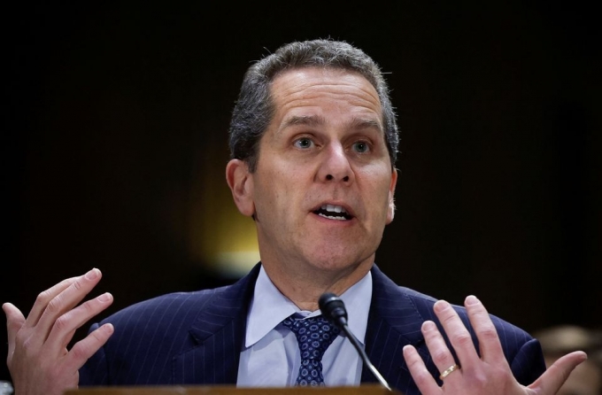
[[[64,350],[69,342],[71,342],[75,330],[81,328],[92,317],[111,306],[112,302],[112,295],[109,292],[105,292],[58,317],[48,337],[48,344],[53,345],[50,352],[61,352],[61,350]]]

